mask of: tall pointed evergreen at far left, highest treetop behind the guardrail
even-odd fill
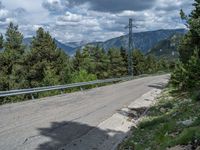
[[[23,35],[18,31],[18,26],[10,23],[4,42],[3,66],[8,81],[7,90],[27,87],[24,70],[25,46]]]

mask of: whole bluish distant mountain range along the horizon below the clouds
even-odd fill
[[[183,35],[187,31],[185,29],[174,29],[174,30],[156,30],[139,32],[133,34],[133,41],[135,48],[140,49],[144,54],[147,54],[156,44],[160,41],[167,40],[175,34]],[[32,38],[25,38],[24,44],[30,45]],[[92,42],[86,44],[86,42],[69,42],[61,43],[55,39],[57,46],[63,49],[69,55],[74,55],[77,49],[81,49],[84,46],[99,46],[108,50],[109,48],[127,48],[128,46],[128,35],[120,36],[107,40],[105,42]]]

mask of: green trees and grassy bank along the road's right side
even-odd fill
[[[179,46],[168,88],[147,115],[132,129],[120,150],[200,149],[200,1],[181,17],[189,28]]]

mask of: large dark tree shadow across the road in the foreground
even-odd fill
[[[38,130],[48,139],[38,146],[39,150],[106,150],[112,148],[111,143],[116,139],[126,136],[121,131],[102,130],[77,122],[52,122],[51,127]]]

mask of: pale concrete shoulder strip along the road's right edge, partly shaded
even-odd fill
[[[130,134],[131,127],[136,126],[150,106],[156,102],[161,89],[152,89],[134,100],[128,107],[118,110],[112,117],[100,123],[86,135],[62,147],[62,150],[105,149],[114,150]],[[130,115],[134,115],[130,117]],[[134,119],[130,119],[134,118]],[[105,131],[105,134],[99,132]]]

